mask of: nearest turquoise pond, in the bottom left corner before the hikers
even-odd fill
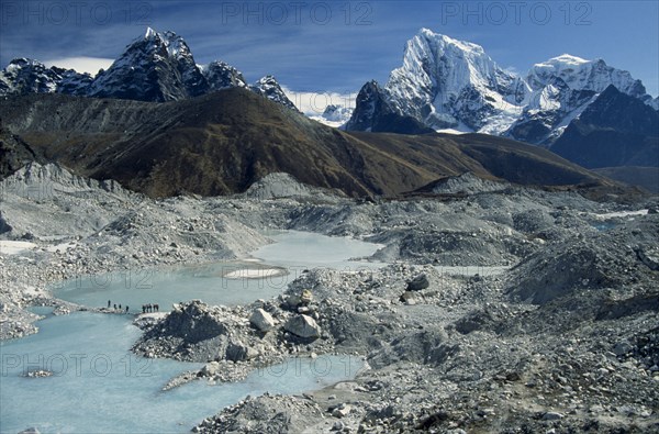
[[[0,343],[0,432],[186,433],[247,394],[300,393],[354,378],[348,356],[290,359],[237,383],[193,381],[160,389],[199,364],[129,352],[139,330],[127,315],[80,312],[40,321],[40,332]],[[51,377],[26,372],[49,370]]]

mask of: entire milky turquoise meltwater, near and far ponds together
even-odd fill
[[[54,293],[88,307],[107,307],[111,300],[130,305],[132,312],[144,303],[158,303],[166,311],[171,303],[191,299],[209,304],[249,303],[281,293],[304,268],[372,268],[377,265],[348,259],[369,256],[380,247],[300,232],[278,232],[272,238],[275,244],[253,254],[263,263],[88,276],[64,282]],[[267,271],[272,267],[289,274],[270,276]],[[245,269],[264,270],[261,276],[267,277],[226,278]],[[354,378],[361,367],[358,358],[348,356],[291,359],[254,371],[237,383],[193,381],[163,392],[170,378],[201,365],[133,355],[130,348],[139,330],[132,325],[132,315],[78,312],[53,316],[48,310],[34,311],[49,315],[37,323],[37,334],[0,343],[1,433],[29,427],[42,433],[185,433],[247,394],[320,389]],[[53,375],[26,377],[37,370]]]

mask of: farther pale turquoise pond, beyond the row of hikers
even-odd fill
[[[356,270],[373,268],[375,263],[350,261],[372,255],[381,246],[347,237],[280,231],[270,237],[273,244],[253,253],[263,263],[216,263],[170,269],[132,269],[97,276],[81,276],[59,283],[55,297],[92,308],[121,304],[131,312],[142,305],[157,303],[169,310],[172,303],[200,299],[208,304],[235,305],[269,299],[281,293],[288,283],[308,268]],[[267,265],[265,265],[267,264]],[[288,269],[286,275],[268,275],[272,267]],[[239,270],[263,270],[264,278],[227,279]]]

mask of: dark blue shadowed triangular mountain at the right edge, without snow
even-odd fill
[[[551,151],[588,168],[659,167],[659,113],[611,86],[568,125]]]

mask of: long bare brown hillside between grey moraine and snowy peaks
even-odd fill
[[[466,171],[522,185],[615,186],[518,142],[345,133],[238,88],[167,103],[29,94],[0,101],[0,110],[46,158],[153,197],[244,191],[278,171],[350,196],[398,194]]]

